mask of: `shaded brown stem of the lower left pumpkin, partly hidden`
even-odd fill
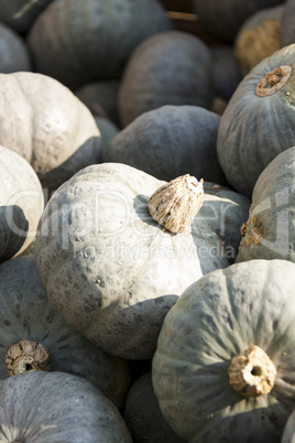
[[[9,348],[6,366],[10,376],[50,370],[50,350],[41,343],[22,339]]]

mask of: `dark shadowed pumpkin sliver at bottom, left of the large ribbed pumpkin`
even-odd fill
[[[124,421],[134,443],[184,443],[160,410],[152,385],[152,372],[139,377],[131,386],[125,406]]]

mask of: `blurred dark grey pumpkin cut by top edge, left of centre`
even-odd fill
[[[58,0],[36,19],[28,44],[36,71],[73,89],[120,78],[134,47],[171,28],[159,0]]]

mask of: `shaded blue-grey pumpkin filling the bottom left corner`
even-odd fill
[[[132,443],[116,406],[90,381],[65,372],[3,380],[0,422],[3,442]]]

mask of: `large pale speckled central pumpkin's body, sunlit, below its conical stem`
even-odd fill
[[[192,215],[190,204],[201,204],[196,182],[181,181],[179,193],[170,187],[164,209],[175,207],[168,216],[157,198],[150,199],[166,182],[101,163],[75,174],[46,205],[35,241],[41,281],[54,309],[102,349],[152,358],[163,318],[184,288],[228,266],[219,238],[201,217],[186,228],[182,224],[184,214],[186,220]],[[163,229],[150,210],[184,230]]]

